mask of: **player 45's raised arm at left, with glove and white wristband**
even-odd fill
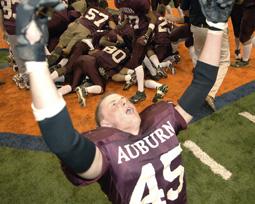
[[[61,10],[58,0],[28,0],[17,7],[17,51],[26,61],[32,109],[50,150],[75,173],[92,179],[100,175],[102,155],[90,140],[75,131],[65,101],[50,78],[44,46],[48,14]]]

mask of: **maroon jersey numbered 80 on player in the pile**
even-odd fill
[[[115,46],[107,46],[95,53],[95,57],[97,59],[97,64],[106,71],[109,71],[123,64],[129,57],[129,54],[124,49],[118,49]]]

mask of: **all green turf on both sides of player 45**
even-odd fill
[[[252,204],[255,202],[255,124],[238,115],[255,115],[255,93],[204,118],[183,131],[232,173],[229,180],[215,175],[183,147],[188,200],[191,204]],[[50,153],[0,148],[0,203],[107,202],[98,185],[73,187]]]

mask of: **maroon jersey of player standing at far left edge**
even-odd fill
[[[16,33],[16,6],[20,0],[0,0],[0,9],[3,11],[3,24],[9,35]]]

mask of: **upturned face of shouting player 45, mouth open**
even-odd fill
[[[119,94],[107,96],[102,104],[102,126],[110,126],[137,135],[141,118],[135,106]]]

